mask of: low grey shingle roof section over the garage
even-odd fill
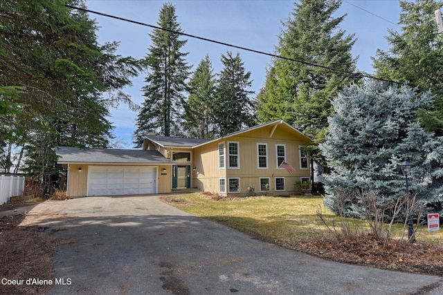
[[[158,151],[135,149],[79,149],[57,146],[55,153],[59,164],[172,164]]]

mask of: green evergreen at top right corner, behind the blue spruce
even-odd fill
[[[437,136],[443,135],[443,37],[434,12],[442,5],[435,0],[400,1],[401,32],[391,30],[386,37],[390,50],[377,50],[373,58],[377,77],[417,86],[419,93],[431,89],[433,105],[417,115],[425,130]]]

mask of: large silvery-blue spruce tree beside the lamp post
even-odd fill
[[[400,164],[407,160],[413,165],[410,195],[417,194],[427,211],[442,213],[443,137],[424,131],[416,118],[431,102],[429,93],[418,96],[407,86],[352,85],[339,93],[332,102],[336,113],[329,117],[329,135],[320,144],[332,169],[325,176],[329,209],[364,218],[356,191],[371,191],[389,214],[397,199],[406,198]]]

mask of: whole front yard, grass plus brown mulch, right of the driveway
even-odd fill
[[[413,245],[393,240],[382,245],[370,236],[365,220],[347,218],[352,236],[334,240],[318,218],[321,210],[329,228],[341,231],[341,219],[323,207],[323,198],[248,197],[218,200],[202,193],[163,197],[172,206],[238,229],[266,242],[305,251],[330,260],[383,269],[421,274],[443,275],[443,233],[421,227]],[[366,234],[357,233],[365,231]],[[393,235],[400,236],[402,225],[395,225]],[[406,229],[407,234],[407,229]]]

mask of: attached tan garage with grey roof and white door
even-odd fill
[[[67,172],[66,194],[126,196],[170,193],[172,161],[159,151],[56,148]]]

